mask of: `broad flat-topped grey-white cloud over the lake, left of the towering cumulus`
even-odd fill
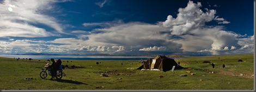
[[[152,44],[156,46],[167,45],[167,48],[173,52],[181,51],[181,45],[169,39],[168,29],[157,24],[130,22],[109,28],[95,29],[94,31],[100,32],[100,34],[93,34],[94,32],[92,32],[92,34],[87,35],[88,40],[85,41],[86,43],[90,43],[90,45],[105,45],[112,47],[112,49],[118,48],[115,50],[117,52],[131,51],[131,49],[139,50]]]

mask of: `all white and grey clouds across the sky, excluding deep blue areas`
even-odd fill
[[[254,35],[225,30],[224,25],[232,22],[214,9],[202,10],[200,2],[188,1],[176,9],[176,15],[166,15],[165,21],[154,24],[122,19],[81,23],[92,30],[68,29],[75,27],[55,15],[64,11],[56,4],[64,2],[72,1],[1,1],[0,54],[225,55],[254,51]],[[112,2],[92,4],[103,9]]]

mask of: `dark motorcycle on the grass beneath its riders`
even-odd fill
[[[60,67],[62,67],[63,65],[61,65]],[[42,69],[41,73],[40,73],[40,77],[42,79],[46,78],[47,75],[52,76],[51,74],[51,66],[47,63],[45,65],[45,69]],[[57,74],[56,74],[56,78],[57,79],[61,79],[63,76],[66,76],[66,74],[64,73],[64,71],[62,70],[62,68],[57,70]]]

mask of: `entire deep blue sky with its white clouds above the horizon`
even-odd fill
[[[0,54],[254,52],[252,0],[0,0]]]

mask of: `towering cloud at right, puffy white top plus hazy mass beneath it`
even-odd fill
[[[185,8],[178,10],[179,14],[176,18],[169,15],[167,20],[160,22],[160,24],[169,28],[171,35],[181,38],[174,42],[182,44],[184,51],[209,51],[212,54],[219,54],[218,51],[229,50],[227,45],[239,47],[237,37],[240,35],[231,31],[224,31],[222,27],[205,25],[206,22],[210,21],[222,24],[230,22],[216,16],[216,10],[205,9],[206,11],[203,12],[200,7],[202,7],[200,2],[189,1]]]

